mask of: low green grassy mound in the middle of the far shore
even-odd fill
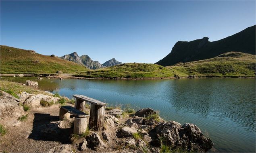
[[[112,67],[89,70],[74,76],[85,78],[154,78],[173,77],[171,69],[156,64],[124,63]]]

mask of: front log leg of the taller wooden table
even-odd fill
[[[89,126],[96,131],[102,130],[104,126],[104,114],[106,106],[91,104]]]

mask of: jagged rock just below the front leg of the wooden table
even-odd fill
[[[87,136],[86,140],[88,142],[88,147],[90,147],[91,149],[106,148],[106,145],[100,139],[100,136],[96,132],[93,132],[91,135]]]

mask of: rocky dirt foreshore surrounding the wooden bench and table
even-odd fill
[[[0,124],[9,131],[1,135],[1,152],[207,152],[213,147],[211,139],[205,137],[198,126],[165,121],[151,108],[135,112],[131,108],[108,107],[102,131],[87,129],[82,135],[73,135],[73,118],[58,120],[60,100],[71,100],[50,92],[21,92],[18,96],[15,98],[0,90]],[[63,104],[73,106],[71,103]],[[24,106],[30,110],[25,111]],[[85,112],[89,113],[89,106]],[[27,121],[20,120],[26,115]],[[38,116],[56,117],[49,121]],[[12,137],[23,133],[27,133],[26,136]],[[20,144],[23,141],[33,147],[17,150],[17,146],[24,145]],[[16,142],[16,145],[7,142]]]

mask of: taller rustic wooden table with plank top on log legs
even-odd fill
[[[99,100],[89,98],[83,95],[73,95],[76,98],[75,108],[80,111],[85,110],[85,102],[91,103],[89,127],[96,131],[102,130],[104,126],[104,114],[106,103]]]

